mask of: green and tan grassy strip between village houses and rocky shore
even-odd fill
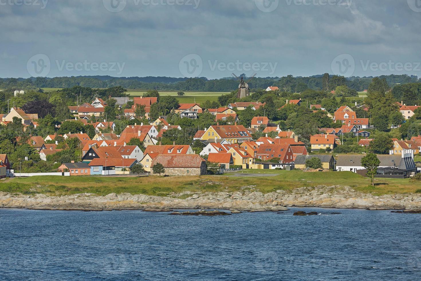
[[[244,175],[242,175],[244,174]],[[261,177],[246,177],[246,174],[261,174]],[[267,177],[267,174],[275,174]],[[352,172],[304,172],[275,170],[244,170],[237,174],[201,177],[30,177],[15,178],[0,183],[0,191],[24,194],[45,193],[69,195],[75,193],[132,193],[165,196],[182,191],[236,191],[243,186],[256,185],[263,193],[276,190],[292,190],[298,187],[317,185],[351,186],[356,190],[375,195],[414,193],[421,183],[410,183],[409,179],[370,179]]]

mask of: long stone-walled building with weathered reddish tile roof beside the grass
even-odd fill
[[[167,176],[203,176],[208,174],[206,160],[197,154],[158,155],[152,161],[153,167],[160,163],[164,166]]]

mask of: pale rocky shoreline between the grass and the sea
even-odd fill
[[[130,193],[98,196],[81,193],[66,196],[45,194],[23,195],[0,192],[0,208],[39,210],[112,211],[134,209],[224,209],[233,211],[283,211],[288,207],[327,207],[357,209],[421,209],[418,194],[375,196],[351,187],[301,187],[293,191],[277,190],[263,194],[255,187],[243,187],[237,192],[171,194],[167,197],[132,195]],[[180,199],[179,197],[186,197]]]

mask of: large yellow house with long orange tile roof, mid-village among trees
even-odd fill
[[[230,144],[238,142],[249,142],[252,140],[252,136],[248,130],[242,125],[225,125],[225,126],[210,126],[205,130],[205,134],[202,136],[202,140],[208,139],[225,139]]]

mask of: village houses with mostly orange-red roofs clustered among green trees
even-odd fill
[[[273,91],[276,87],[269,87],[267,91]],[[128,99],[121,101],[121,104],[128,102]],[[286,104],[301,104],[301,99],[287,100]],[[70,112],[75,115],[74,119],[67,121],[81,121],[84,124],[92,124],[96,135],[91,139],[83,132],[69,132],[62,134],[64,139],[76,138],[80,145],[80,161],[62,163],[57,169],[61,173],[69,173],[70,176],[86,175],[123,175],[130,174],[133,166],[141,165],[144,171],[153,174],[153,166],[160,163],[165,168],[166,175],[204,175],[207,174],[207,163],[216,163],[221,171],[229,169],[306,169],[306,161],[311,158],[319,158],[323,169],[336,169],[339,171],[362,170],[361,155],[339,155],[338,161],[330,154],[309,155],[309,153],[320,150],[330,151],[342,145],[341,137],[344,134],[353,134],[359,138],[358,145],[367,147],[373,140],[370,138],[369,118],[357,118],[348,106],[341,106],[330,114],[320,104],[311,104],[314,112],[323,110],[334,123],[339,123],[339,128],[319,128],[320,133],[310,136],[309,147],[299,140],[299,136],[293,131],[282,131],[278,124],[272,124],[265,116],[256,116],[251,120],[250,128],[239,125],[240,119],[237,114],[240,110],[252,108],[258,110],[264,106],[261,102],[236,102],[226,107],[203,109],[200,104],[180,104],[173,112],[181,118],[197,119],[204,112],[215,116],[216,125],[199,130],[193,140],[203,143],[203,150],[196,154],[192,144],[161,145],[159,139],[165,131],[179,129],[180,126],[172,126],[167,122],[166,116],[157,120],[149,118],[150,108],[157,103],[155,97],[136,97],[133,99],[131,109],[124,110],[124,118],[135,119],[145,117],[148,123],[134,123],[128,125],[120,135],[115,134],[115,123],[107,120],[91,123],[91,118],[104,115],[104,108],[107,104],[104,100],[97,98],[91,104],[84,103],[77,106],[69,106]],[[120,105],[121,105],[120,104]],[[144,109],[144,116],[137,116],[136,108],[141,106]],[[410,118],[413,111],[418,107],[407,107],[400,104],[400,111],[405,118]],[[27,114],[20,108],[13,107],[8,114],[1,118],[1,123],[6,125],[13,121],[13,117],[20,118],[25,128],[37,126],[37,114]],[[220,125],[220,122],[226,125]],[[253,139],[252,134],[264,126],[262,136]],[[102,133],[104,128],[109,133]],[[270,137],[269,134],[272,136]],[[31,136],[28,143],[39,151],[40,159],[47,160],[48,155],[60,152],[58,143],[54,140],[58,135]],[[138,139],[146,148],[144,151],[137,145],[128,145],[132,139]],[[48,143],[47,143],[48,142]],[[421,137],[414,137],[410,140],[394,139],[394,149],[390,155],[384,155],[381,159],[381,167],[392,172],[400,173],[405,177],[416,168],[413,157],[421,149]],[[361,157],[360,157],[361,156]],[[389,171],[389,172],[390,172]],[[5,177],[10,172],[7,155],[0,155],[0,177]],[[387,174],[387,171],[386,171]]]

